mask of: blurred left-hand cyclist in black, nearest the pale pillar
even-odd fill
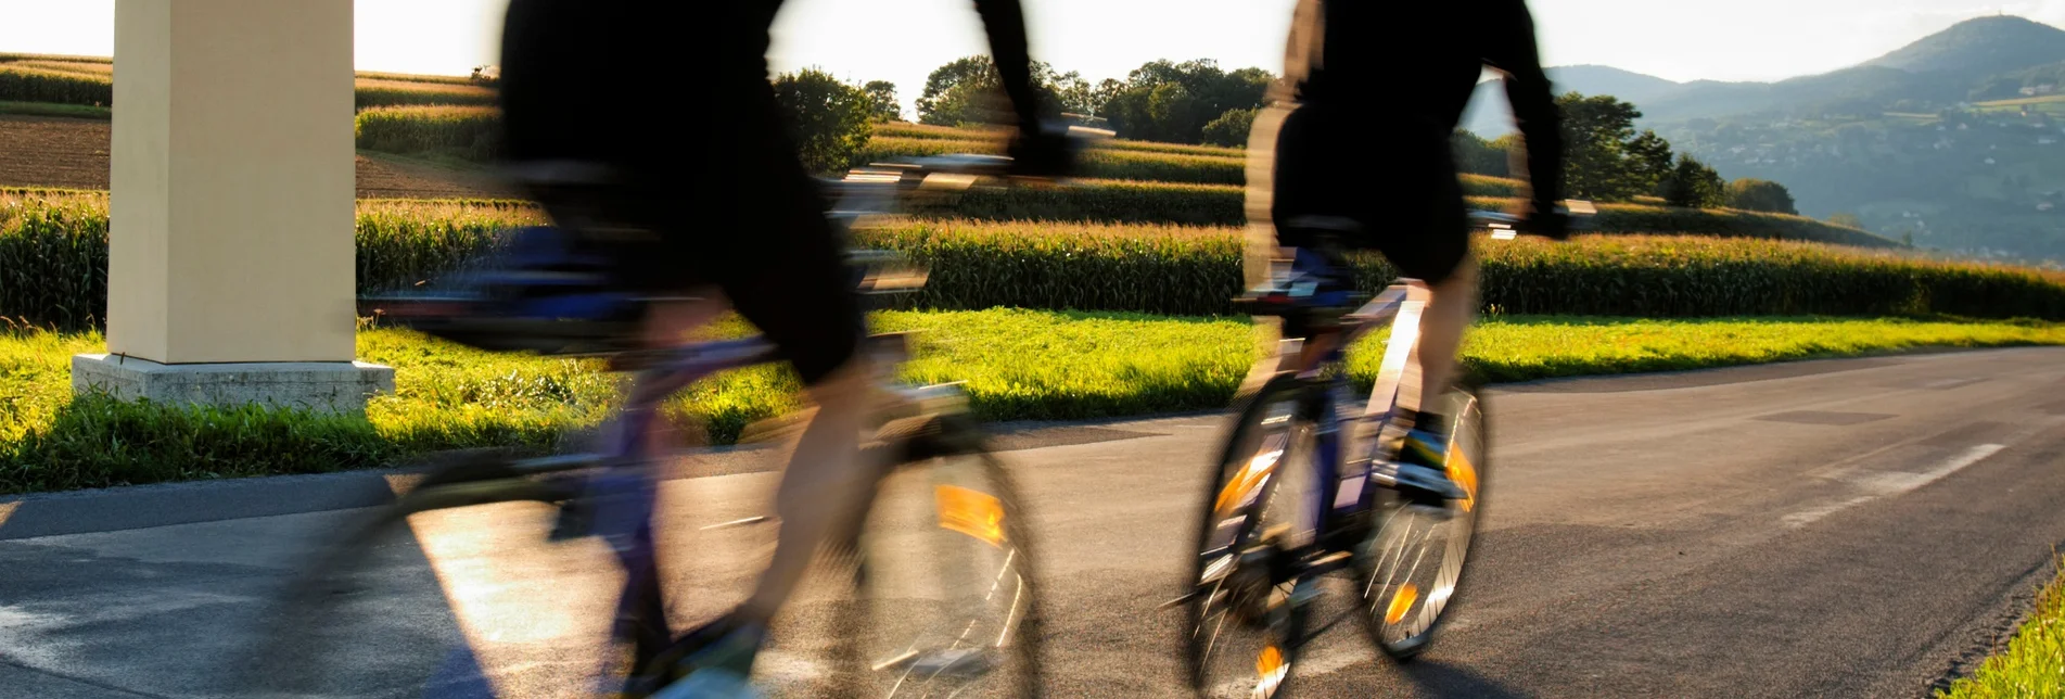
[[[1059,174],[1063,134],[1039,120],[1020,4],[975,4],[1016,112],[1014,168]],[[768,83],[779,8],[781,0],[512,0],[502,29],[506,157],[599,163],[615,174],[591,186],[593,196],[535,192],[580,240],[547,244],[529,269],[504,275],[514,296],[543,300],[527,308],[560,316],[572,312],[566,300],[576,292],[663,298],[572,312],[605,318],[648,308],[644,347],[679,343],[723,308],[698,298],[721,298],[779,345],[816,403],[776,490],[774,560],[752,598],[684,639],[700,647],[692,666],[729,668],[737,678],[750,674],[828,519],[865,492],[851,482],[867,407],[869,368],[857,354],[863,314],[828,201],[799,161]],[[586,290],[553,285],[564,281],[551,271],[578,267],[568,250],[601,250],[607,261]],[[510,281],[527,273],[533,287]]]

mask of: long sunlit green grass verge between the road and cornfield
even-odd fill
[[[1041,310],[878,312],[878,331],[919,331],[902,376],[964,381],[989,420],[1072,420],[1225,407],[1256,358],[1245,318]],[[727,321],[708,335],[748,331]],[[1683,370],[1850,356],[1920,345],[2061,345],[2044,323],[1828,318],[1638,321],[1503,316],[1483,321],[1464,362],[1491,381]],[[595,360],[487,354],[417,333],[368,329],[359,358],[394,366],[394,395],[366,418],[306,412],[184,409],[72,397],[72,354],[97,333],[0,333],[0,492],[376,467],[454,447],[551,449],[603,420],[617,381]],[[1367,389],[1381,335],[1351,354]],[[708,443],[797,407],[795,376],[764,366],[712,376],[669,403]]]

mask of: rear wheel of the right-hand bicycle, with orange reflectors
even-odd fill
[[[1301,488],[1282,482],[1311,457],[1301,453],[1311,434],[1301,395],[1295,376],[1264,385],[1204,492],[1181,629],[1185,680],[1202,697],[1282,697],[1299,656],[1305,612],[1291,600],[1313,581],[1284,573],[1282,534],[1297,525]]]

